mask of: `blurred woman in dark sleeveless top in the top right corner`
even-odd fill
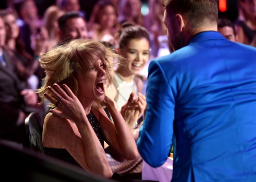
[[[256,2],[237,0],[238,17],[235,22],[239,42],[256,47]]]

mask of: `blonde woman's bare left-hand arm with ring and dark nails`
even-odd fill
[[[52,117],[46,118],[43,131],[43,143],[46,147],[65,148],[72,157],[88,172],[105,176],[112,176],[105,151],[98,140],[85,110],[67,85],[63,85],[66,92],[57,84],[49,88],[56,98],[62,98],[58,107],[50,110]],[[57,100],[45,94],[52,103]],[[49,136],[50,135],[50,136]],[[55,140],[51,144],[51,140]]]

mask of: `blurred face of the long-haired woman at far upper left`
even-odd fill
[[[19,36],[19,26],[16,22],[16,17],[13,14],[7,14],[4,16],[4,22],[6,24],[6,38],[16,39]]]

